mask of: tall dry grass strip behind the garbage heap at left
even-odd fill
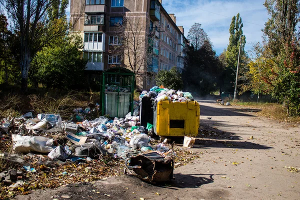
[[[8,93],[0,98],[0,118],[16,117],[31,111],[33,114],[60,114],[63,119],[69,119],[73,109],[94,106],[95,102],[100,103],[100,96],[98,92],[92,91],[46,92],[30,95]]]

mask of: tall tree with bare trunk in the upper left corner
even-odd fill
[[[70,27],[65,18],[55,18],[54,14],[49,14],[49,11],[54,12],[52,8],[57,8],[57,6],[59,11],[56,13],[62,13],[66,1],[2,0],[1,5],[7,10],[8,16],[14,24],[14,29],[19,32],[21,91],[26,92],[32,58],[51,39],[64,35],[65,30]]]

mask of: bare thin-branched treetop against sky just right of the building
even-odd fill
[[[188,30],[187,39],[194,46],[195,50],[198,50],[204,41],[208,40],[208,36],[203,28],[201,28],[200,23],[194,23]]]

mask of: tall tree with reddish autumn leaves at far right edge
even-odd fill
[[[272,96],[282,102],[288,115],[300,114],[300,43],[296,27],[300,20],[298,0],[265,0],[271,16],[263,29],[263,42],[273,64]]]

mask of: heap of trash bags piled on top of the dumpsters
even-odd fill
[[[153,86],[150,91],[142,91],[139,96],[140,101],[143,96],[153,98],[153,100],[156,102],[159,100],[171,100],[173,102],[185,102],[193,100],[193,96],[189,92],[183,92],[180,90],[175,91],[174,89],[164,88],[163,86]]]

